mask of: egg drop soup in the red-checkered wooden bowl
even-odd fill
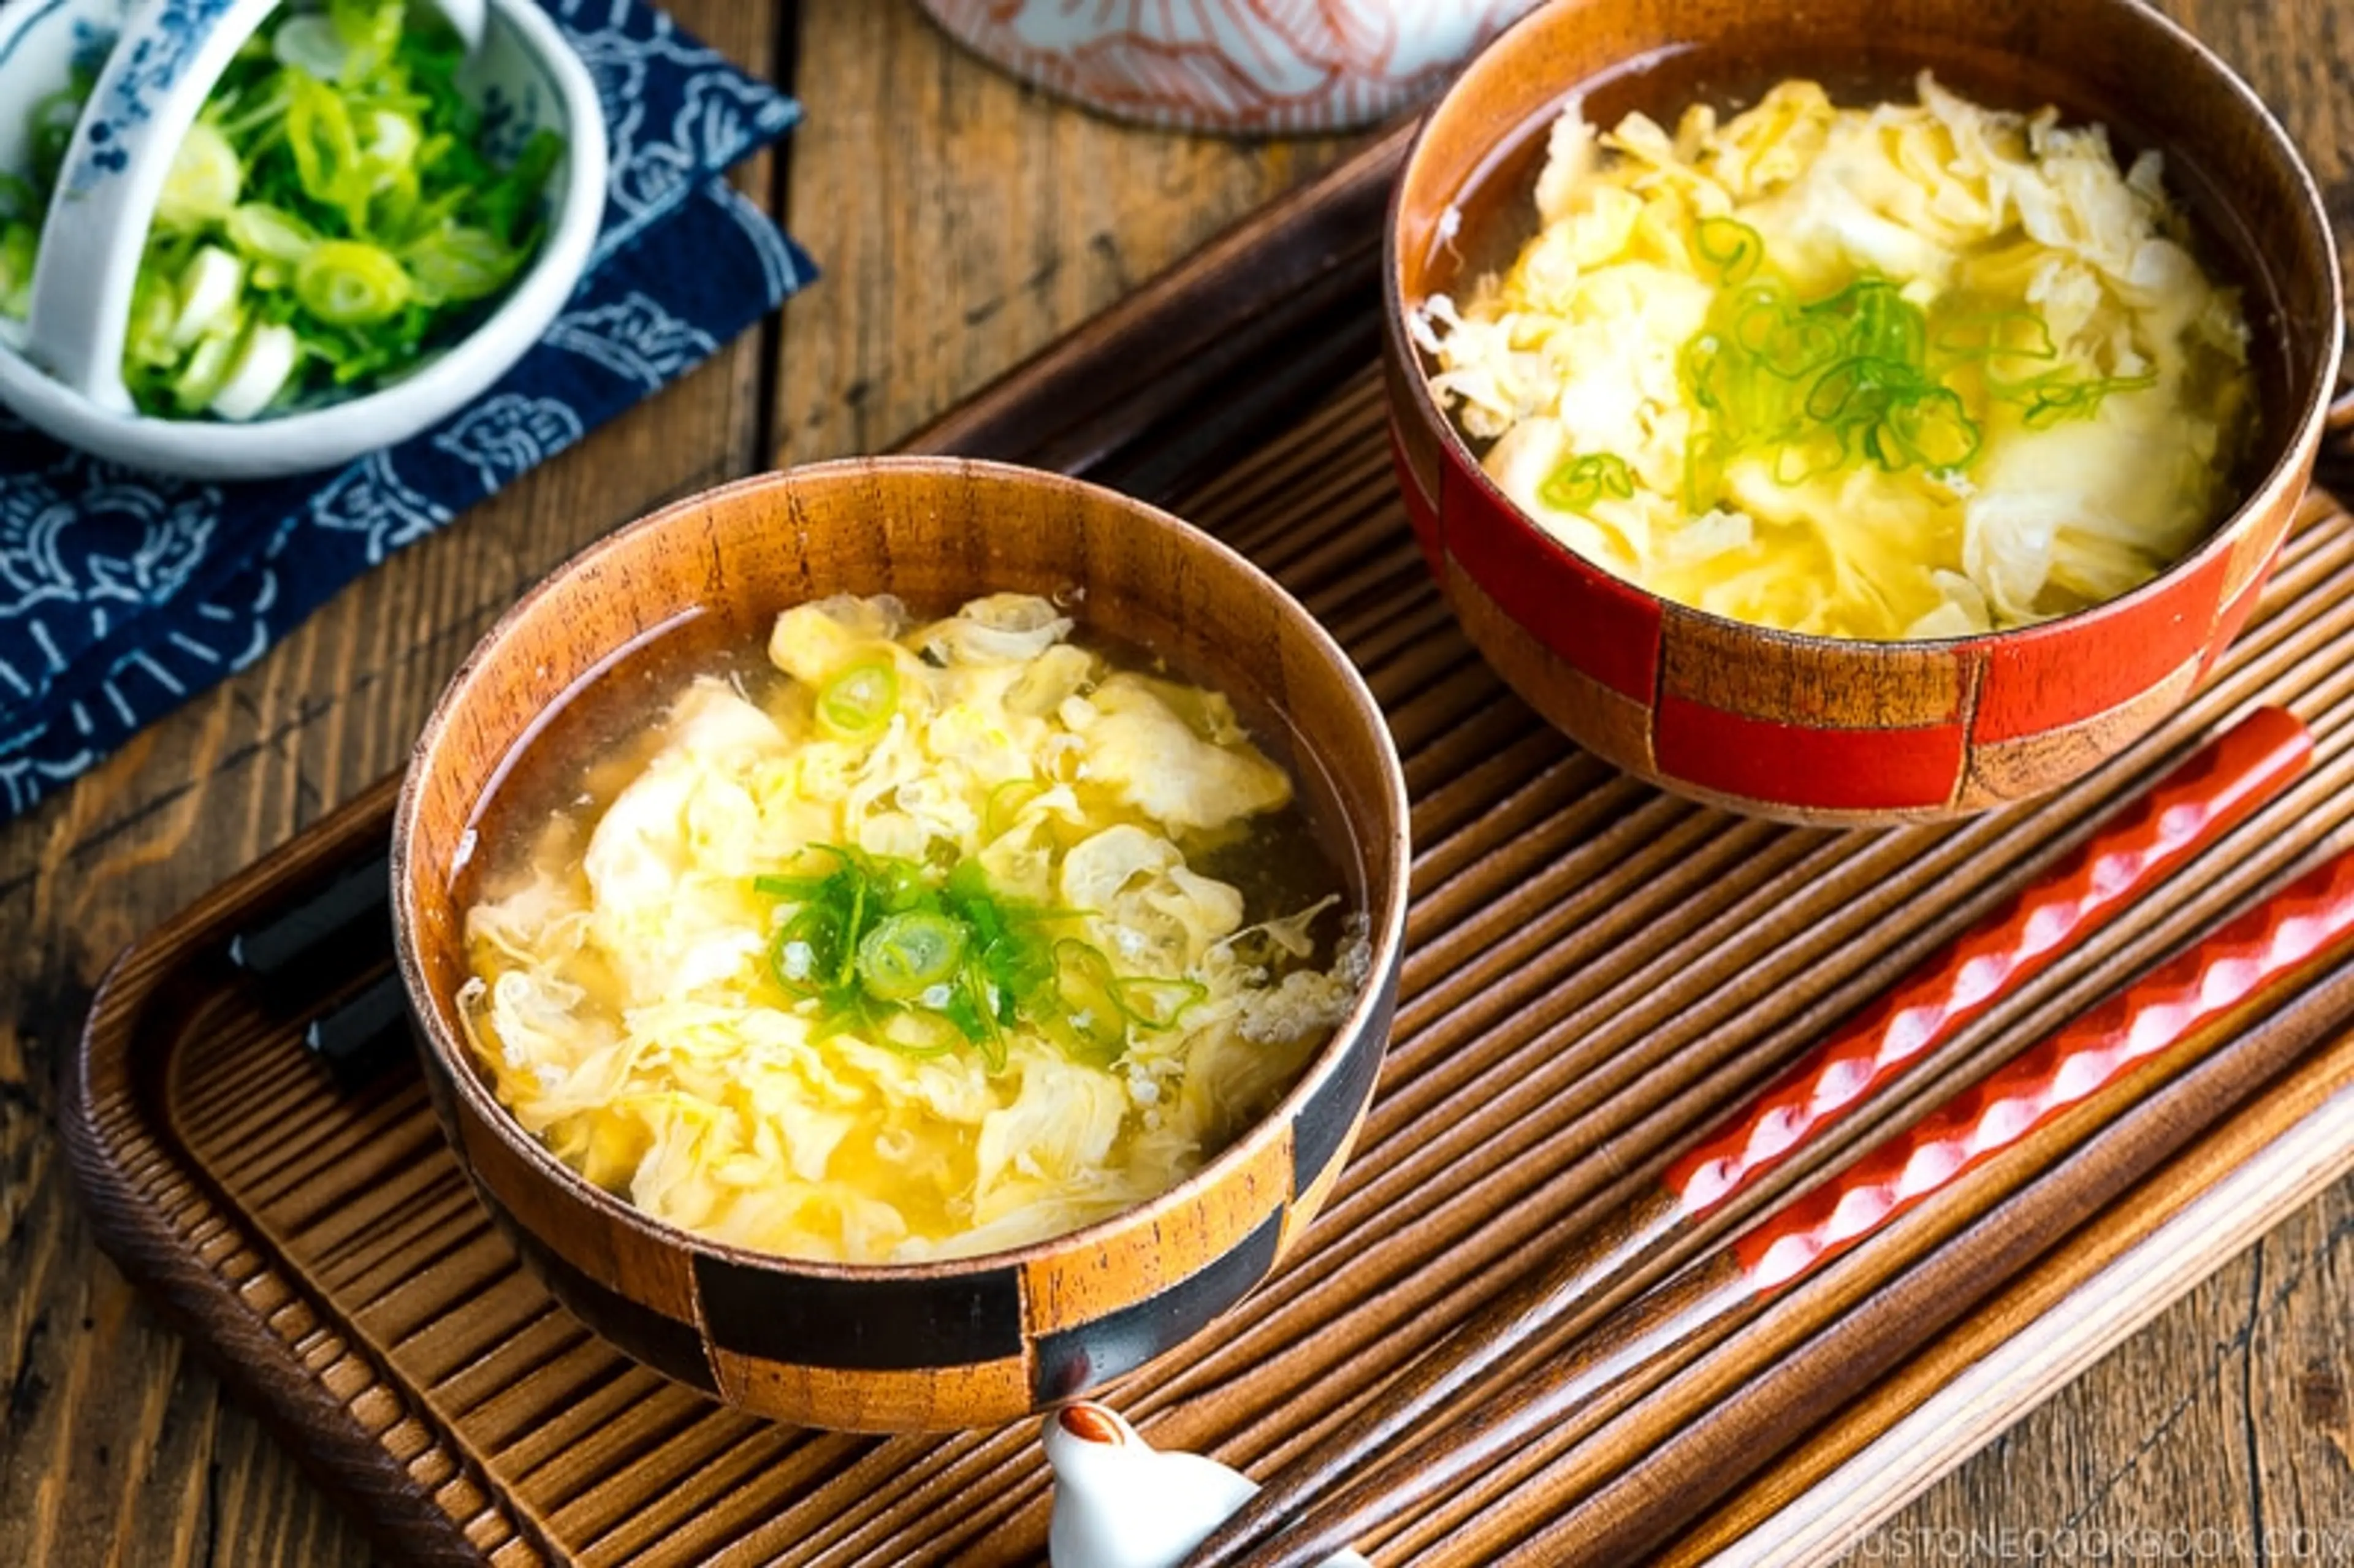
[[[1410,320],[1537,525],[1662,598],[1876,640],[2069,614],[2215,527],[2248,325],[2163,158],[1914,94],[1561,113],[1535,235],[1502,214],[1518,250]]]

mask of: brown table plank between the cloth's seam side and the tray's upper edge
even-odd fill
[[[913,5],[812,5],[789,224],[829,266],[784,318],[779,466],[873,452],[1335,162],[1078,113]]]

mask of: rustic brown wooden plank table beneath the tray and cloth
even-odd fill
[[[2161,2],[2255,82],[2354,221],[2354,0]],[[395,768],[476,636],[586,539],[737,473],[892,443],[1346,151],[1106,125],[946,45],[909,0],[671,5],[807,106],[744,181],[826,278],[0,833],[0,1563],[367,1561],[75,1210],[52,1078],[106,961]],[[2354,1563],[2349,1238],[2354,1182],[1853,1561]]]

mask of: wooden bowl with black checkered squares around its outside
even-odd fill
[[[654,1222],[563,1165],[492,1097],[454,996],[454,881],[501,765],[621,650],[683,617],[765,647],[777,612],[897,593],[918,612],[1050,593],[1085,626],[1233,697],[1302,786],[1370,921],[1363,996],[1306,1076],[1233,1147],[1151,1203],[1012,1253],[843,1267]],[[1276,1267],[1363,1121],[1405,930],[1405,782],[1346,655],[1283,589],[1168,513],[1076,480],[949,459],[749,478],[593,544],[476,647],[433,709],[393,826],[400,975],[433,1104],[476,1191],[558,1300],[638,1361],[812,1427],[1005,1422],[1201,1333]]]

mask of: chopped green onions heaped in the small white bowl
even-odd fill
[[[174,153],[139,259],[122,379],[141,410],[245,419],[306,388],[367,386],[513,283],[563,141],[534,132],[494,165],[457,85],[464,59],[405,0],[287,9],[235,52]],[[78,71],[21,111],[26,172],[0,177],[5,315],[31,308],[31,252],[92,85]],[[224,339],[238,344],[226,367]]]

